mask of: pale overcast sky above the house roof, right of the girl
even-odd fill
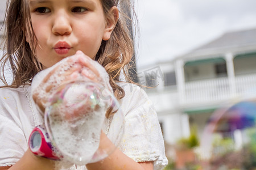
[[[171,60],[225,32],[256,28],[255,0],[138,0],[137,67]]]

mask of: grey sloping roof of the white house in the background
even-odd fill
[[[256,28],[224,33],[224,35],[217,39],[179,58],[190,60],[214,56],[220,57],[224,56],[226,53],[236,55],[247,52],[256,52]]]

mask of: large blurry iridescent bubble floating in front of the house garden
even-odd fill
[[[256,103],[218,109],[205,126],[196,150],[199,169],[256,169]]]

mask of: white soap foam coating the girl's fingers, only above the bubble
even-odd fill
[[[54,91],[56,91],[56,89],[64,82],[68,83],[79,80],[88,80],[86,76],[81,75],[81,72],[85,73],[85,75],[88,75],[90,77],[95,76],[97,82],[101,84],[101,87],[104,87],[113,93],[113,89],[109,83],[109,75],[108,73],[106,73],[104,67],[102,67],[100,63],[93,61],[92,59],[85,59],[85,61],[93,65],[100,74],[100,77],[96,77],[96,75],[91,70],[89,70],[88,67],[82,65],[80,61],[81,58],[85,58],[85,56],[81,56],[81,54],[75,54],[74,56],[64,58],[52,67],[40,71],[38,74],[35,75],[31,84],[32,95],[36,96],[36,99],[38,99],[38,101],[42,103],[44,108],[46,108],[47,106],[49,96]],[[66,80],[67,75],[65,75],[65,73],[67,73],[74,67],[81,67],[81,69],[77,70],[78,76],[76,78]],[[47,77],[48,74],[51,74],[51,76]]]

